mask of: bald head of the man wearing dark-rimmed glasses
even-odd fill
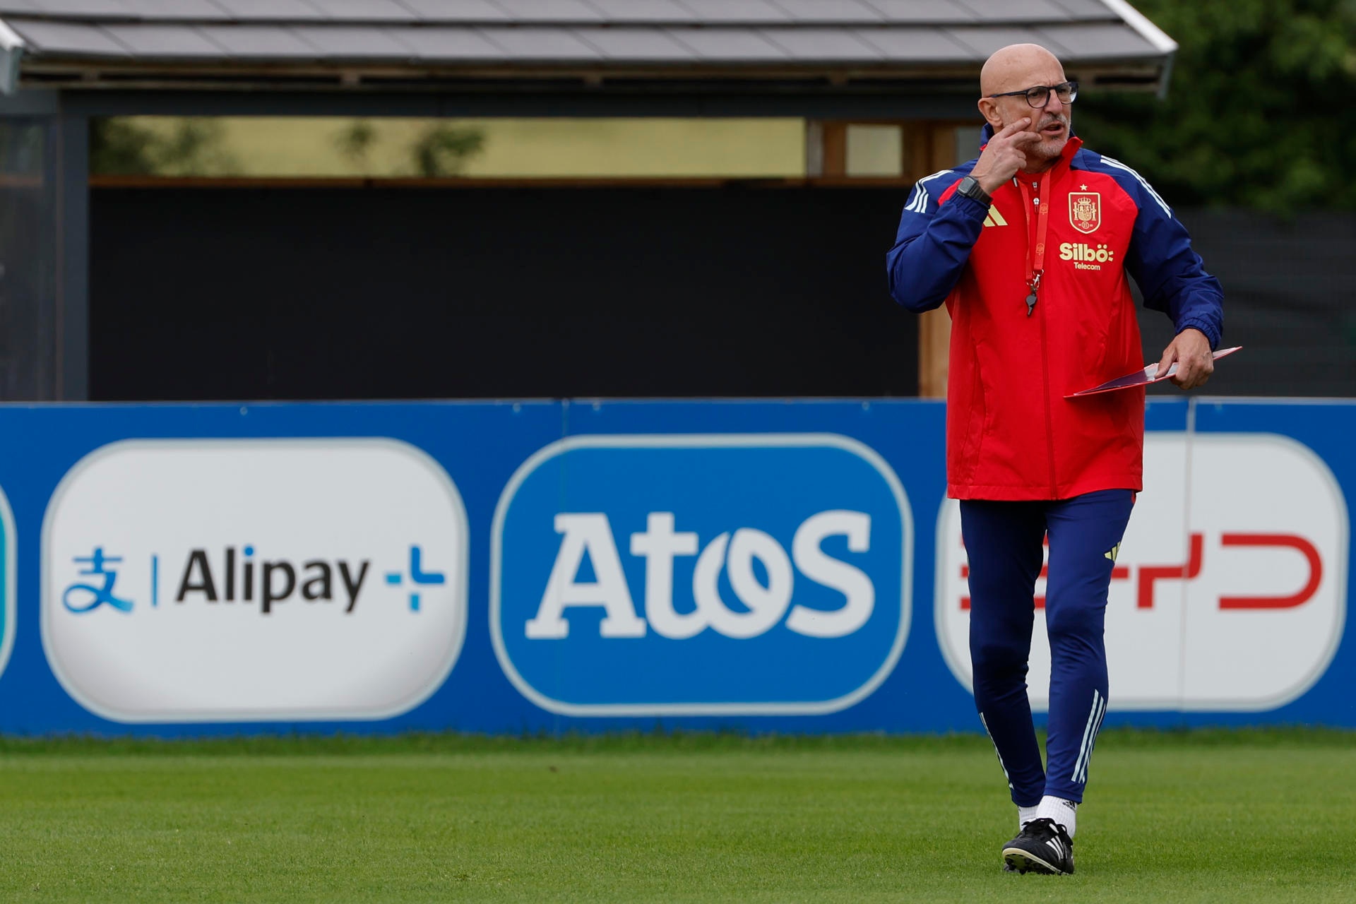
[[[1059,100],[1054,91],[1044,107],[1032,107],[1021,92],[1037,85],[1058,85],[1067,81],[1064,66],[1050,50],[1037,43],[1013,43],[994,52],[979,70],[979,112],[995,133],[1028,119],[1026,131],[1033,131],[1040,141],[1024,148],[1026,169],[1039,172],[1051,165],[1069,142],[1071,121],[1069,104]],[[1008,95],[995,98],[993,95]],[[1066,95],[1067,96],[1067,95]]]

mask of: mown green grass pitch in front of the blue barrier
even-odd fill
[[[1108,731],[1078,873],[979,736],[0,740],[0,899],[1351,901],[1356,733]]]

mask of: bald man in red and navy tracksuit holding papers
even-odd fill
[[[1143,366],[1127,275],[1176,325],[1158,374],[1176,362],[1182,389],[1214,370],[1222,293],[1149,183],[1073,137],[1078,85],[1054,54],[1003,47],[979,80],[987,141],[914,187],[890,289],[952,317],[946,482],[970,554],[975,706],[1018,808],[1005,869],[1064,874],[1106,714],[1106,592],[1144,431],[1143,390],[1066,396]],[[1047,537],[1043,768],[1025,678]]]

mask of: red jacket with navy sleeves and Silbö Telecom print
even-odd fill
[[[890,252],[891,293],[913,310],[942,301],[952,317],[946,386],[948,493],[957,499],[1069,499],[1142,489],[1144,392],[1066,398],[1144,366],[1128,275],[1178,332],[1219,343],[1222,293],[1185,229],[1132,169],[1070,138],[1045,173],[1018,173],[993,207],[953,197],[974,167],[921,180]],[[1033,184],[1035,183],[1035,184]],[[1031,209],[1028,213],[1028,207]]]

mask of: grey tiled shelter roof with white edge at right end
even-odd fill
[[[1124,0],[0,0],[11,73],[66,87],[972,80],[1021,41],[1151,88],[1176,52]]]

